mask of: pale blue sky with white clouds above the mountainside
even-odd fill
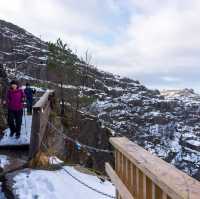
[[[2,0],[0,19],[150,88],[200,90],[199,0]]]

